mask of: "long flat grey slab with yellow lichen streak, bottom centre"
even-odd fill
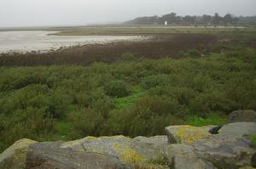
[[[61,144],[61,148],[69,148],[80,152],[96,152],[102,155],[113,155],[126,164],[148,166],[147,161],[151,161],[160,154],[160,149],[156,144],[142,142],[137,139],[126,138],[124,136],[113,137],[86,137]],[[144,140],[146,138],[143,138]],[[151,141],[155,138],[149,138]]]

